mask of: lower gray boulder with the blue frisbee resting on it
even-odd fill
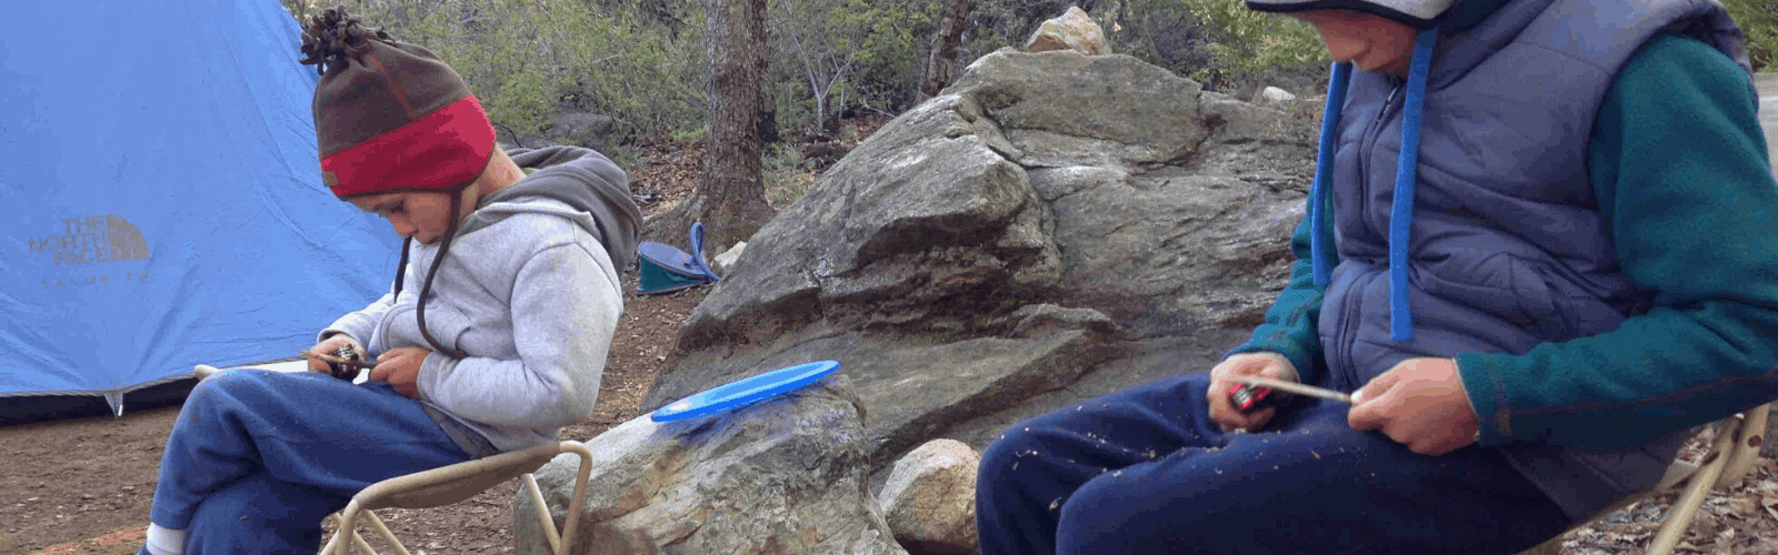
[[[869,496],[864,411],[846,377],[725,414],[649,414],[587,441],[594,452],[574,553],[905,555]],[[565,523],[580,457],[535,477]],[[548,553],[535,505],[514,496],[521,553]]]

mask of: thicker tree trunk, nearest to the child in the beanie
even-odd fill
[[[765,196],[759,142],[761,87],[766,73],[766,2],[704,0],[709,57],[709,133],[697,196],[644,233],[685,244],[692,222],[704,224],[704,256],[747,240],[775,215]]]

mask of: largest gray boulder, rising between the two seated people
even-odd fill
[[[644,409],[837,359],[882,470],[1207,370],[1285,285],[1312,167],[1312,123],[1133,57],[990,53],[749,240]]]

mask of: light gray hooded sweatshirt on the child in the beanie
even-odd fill
[[[571,146],[509,155],[535,173],[482,197],[427,299],[432,336],[468,358],[427,356],[420,400],[475,457],[555,441],[592,413],[624,308],[619,274],[635,263],[642,226],[629,176],[603,155]],[[432,350],[414,308],[437,256],[437,244],[411,244],[400,295],[382,295],[320,336],[345,333],[370,356]]]

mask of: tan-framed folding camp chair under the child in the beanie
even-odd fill
[[[283,365],[268,370],[308,372],[306,365]],[[210,365],[197,365],[194,370],[197,379],[206,379],[224,370]],[[549,516],[549,503],[544,502],[542,489],[537,487],[537,479],[532,473],[560,454],[580,455],[580,473],[574,479],[574,498],[569,502],[567,521],[562,525],[558,534],[555,519]],[[574,541],[574,525],[580,521],[580,511],[587,496],[587,480],[590,475],[592,450],[580,441],[558,441],[393,477],[370,484],[352,496],[352,502],[345,505],[345,511],[338,512],[340,528],[322,548],[320,555],[348,555],[352,548],[364,553],[377,553],[372,550],[370,543],[357,534],[359,519],[368,523],[372,530],[377,530],[377,535],[382,535],[382,541],[388,541],[396,553],[411,555],[407,548],[395,539],[389,527],[382,523],[382,518],[372,511],[391,507],[432,509],[453,505],[512,479],[525,480],[525,491],[530,493],[532,503],[537,507],[537,519],[542,523],[544,539],[549,541],[549,551],[555,555],[567,555],[571,550],[569,543]]]

